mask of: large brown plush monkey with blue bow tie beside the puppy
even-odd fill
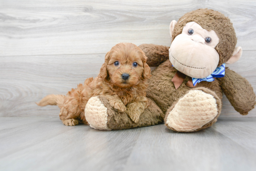
[[[142,44],[149,66],[157,66],[148,80],[149,107],[134,123],[125,112],[112,108],[104,96],[92,97],[85,108],[92,128],[118,130],[165,122],[178,132],[205,129],[217,121],[224,93],[241,115],[255,106],[251,84],[225,68],[242,55],[235,47],[235,31],[228,17],[199,9],[170,23],[172,43]]]

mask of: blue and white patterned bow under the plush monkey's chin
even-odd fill
[[[217,67],[215,71],[205,78],[192,78],[193,85],[195,86],[197,83],[200,83],[201,81],[208,81],[212,82],[214,81],[214,78],[221,78],[225,76],[225,64],[222,64],[221,66]]]

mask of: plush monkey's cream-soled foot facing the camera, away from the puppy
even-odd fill
[[[193,132],[211,126],[221,111],[218,96],[207,88],[190,90],[168,110],[167,128],[178,132]]]

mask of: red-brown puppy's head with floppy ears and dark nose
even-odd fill
[[[106,63],[106,64],[105,64]],[[100,75],[118,87],[133,87],[150,77],[144,52],[132,43],[119,43],[106,54]]]

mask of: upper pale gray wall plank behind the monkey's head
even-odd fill
[[[170,22],[199,8],[228,16],[238,46],[256,50],[252,0],[0,0],[0,56],[106,53],[119,42],[169,46]]]

